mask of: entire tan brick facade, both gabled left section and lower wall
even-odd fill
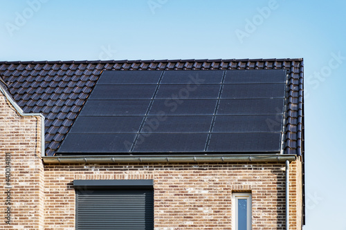
[[[46,164],[41,117],[21,116],[0,93],[0,229],[75,229],[73,180],[154,180],[154,225],[232,229],[232,192],[251,191],[253,229],[285,229],[284,163]],[[11,222],[6,224],[6,153]],[[290,164],[290,229],[301,229],[302,165]]]

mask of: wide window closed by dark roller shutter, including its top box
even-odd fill
[[[152,180],[74,180],[75,229],[154,229]]]

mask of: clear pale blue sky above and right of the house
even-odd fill
[[[0,3],[0,61],[304,58],[304,230],[346,229],[346,1]]]

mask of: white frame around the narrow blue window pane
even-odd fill
[[[246,207],[248,208],[246,213],[246,230],[252,229],[252,196],[251,193],[232,193],[232,213],[233,213],[233,230],[238,230],[238,200],[246,199]]]

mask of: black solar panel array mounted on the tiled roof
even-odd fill
[[[285,89],[285,70],[104,71],[57,153],[277,153]]]

